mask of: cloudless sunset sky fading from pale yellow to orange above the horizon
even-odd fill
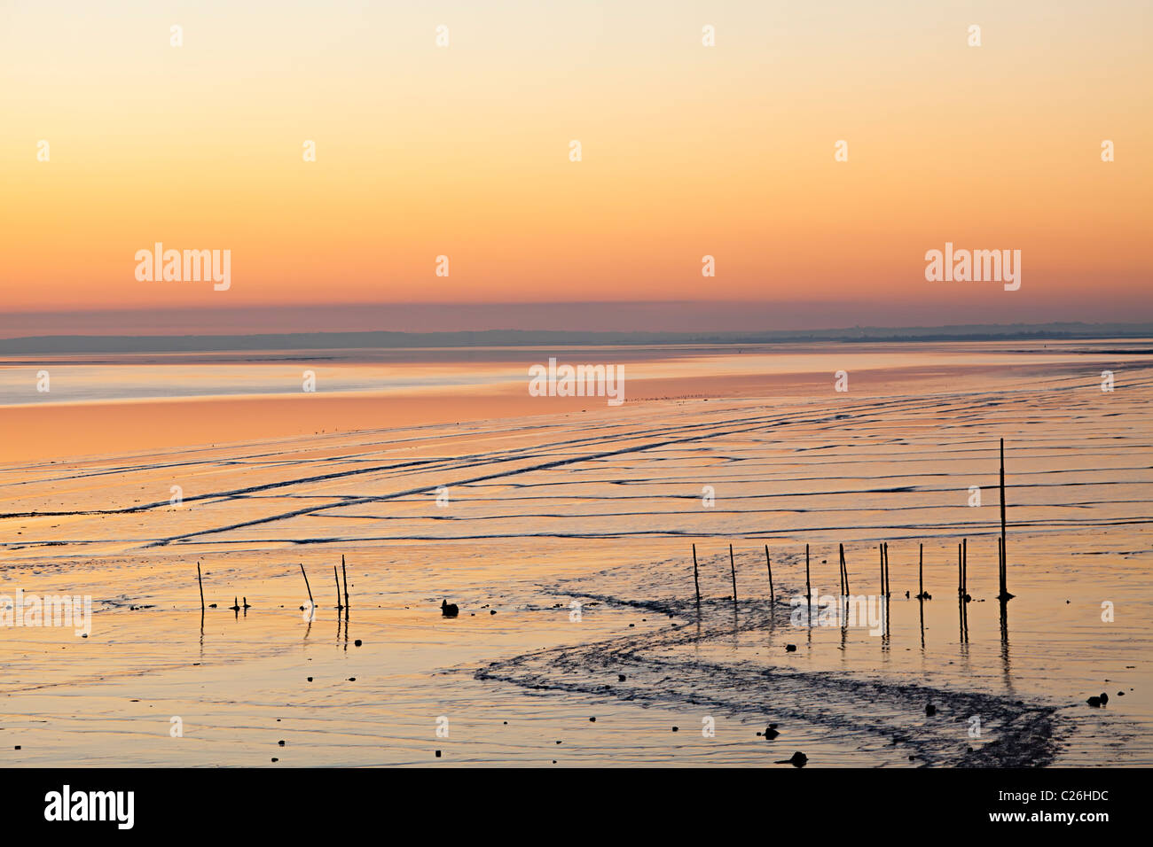
[[[766,328],[1151,319],[1151,23],[1147,0],[3,0],[6,322],[694,300],[701,328],[748,303],[796,316]],[[231,290],[137,282],[156,241],[231,249]],[[1022,250],[1022,289],[926,282],[945,241]]]

